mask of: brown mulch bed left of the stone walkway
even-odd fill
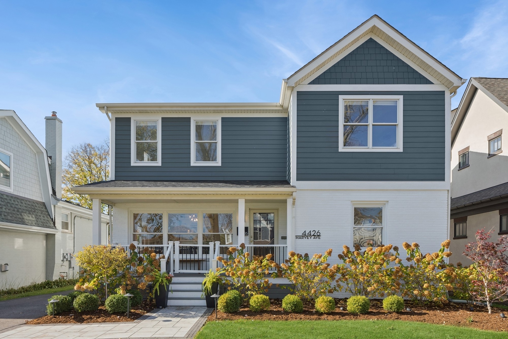
[[[99,310],[90,312],[62,312],[59,315],[44,316],[27,321],[28,325],[39,324],[86,324],[86,323],[116,323],[134,321],[155,309],[155,302],[143,301],[140,306],[131,307],[129,318],[125,313],[109,313],[104,305]]]

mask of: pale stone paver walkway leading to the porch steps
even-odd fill
[[[133,322],[21,325],[0,339],[193,338],[210,314],[204,306],[168,306]]]

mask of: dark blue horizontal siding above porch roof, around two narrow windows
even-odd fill
[[[116,180],[286,180],[287,117],[223,117],[222,166],[190,166],[190,118],[162,118],[162,166],[131,166],[131,118],[115,119]]]

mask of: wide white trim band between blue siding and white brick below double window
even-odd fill
[[[296,181],[297,190],[449,190],[448,181]]]

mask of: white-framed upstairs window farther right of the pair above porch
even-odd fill
[[[217,119],[192,119],[190,165],[220,166],[221,124]]]

